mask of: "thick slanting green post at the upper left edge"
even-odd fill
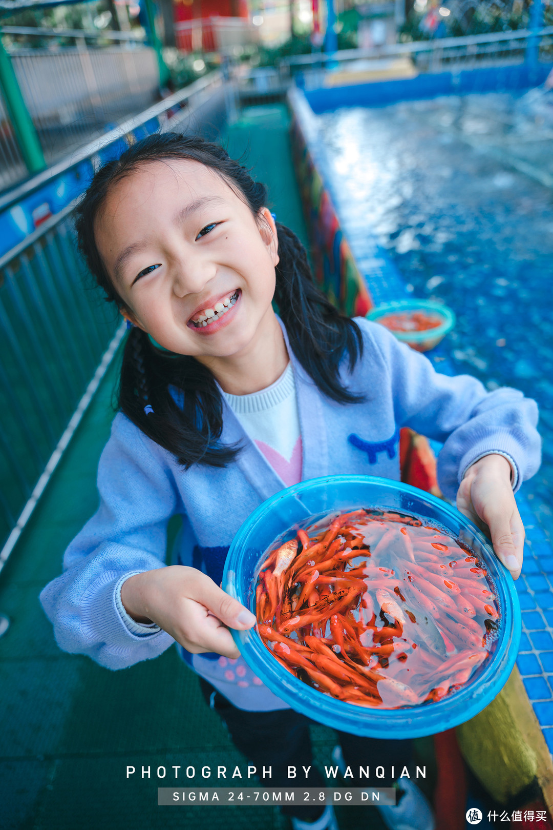
[[[6,103],[6,109],[12,121],[13,131],[17,143],[27,165],[29,173],[38,173],[46,167],[41,143],[36,134],[35,125],[19,88],[19,83],[13,71],[12,60],[2,44],[0,34],[0,90]]]

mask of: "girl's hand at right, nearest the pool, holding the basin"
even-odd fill
[[[524,525],[511,486],[511,465],[494,453],[468,467],[457,492],[457,509],[492,540],[497,559],[521,574]]]

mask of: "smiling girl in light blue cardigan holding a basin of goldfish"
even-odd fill
[[[61,648],[110,669],[176,641],[235,745],[258,770],[272,767],[264,783],[289,785],[292,764],[311,767],[308,784],[318,786],[308,720],[253,675],[228,630],[255,624],[220,588],[236,531],[298,481],[398,481],[398,430],[409,426],[444,442],[442,490],[488,525],[516,579],[524,529],[513,491],[536,472],[540,438],[536,404],[520,392],[436,374],[385,328],[342,316],[266,206],[264,186],[198,138],[151,136],[96,173],[78,208],[80,248],[133,327],[99,463],[99,510],[41,602]],[[182,533],[166,565],[175,514]],[[390,767],[409,762],[408,741],[338,737],[354,774],[385,767],[375,784],[390,786]],[[330,808],[286,809],[294,828],[336,827]],[[392,828],[432,827],[407,779],[386,810]]]

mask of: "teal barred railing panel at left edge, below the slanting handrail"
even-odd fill
[[[2,540],[17,527],[119,325],[99,292],[81,286],[71,210],[0,259]]]

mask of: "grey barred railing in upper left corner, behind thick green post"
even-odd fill
[[[158,98],[157,57],[142,36],[3,27],[2,37],[49,164]],[[12,160],[12,129],[2,110],[0,118],[6,187],[26,171]]]

